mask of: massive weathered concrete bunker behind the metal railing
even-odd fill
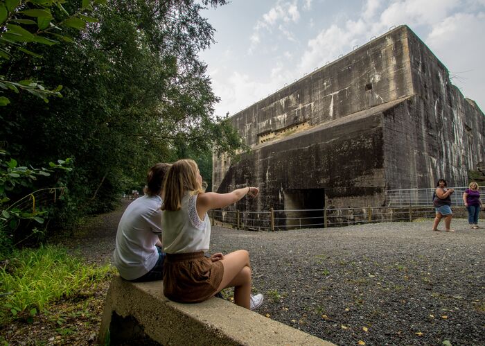
[[[261,187],[241,211],[385,205],[387,189],[464,186],[485,161],[484,114],[407,26],[231,121],[251,151],[214,157],[213,191]]]

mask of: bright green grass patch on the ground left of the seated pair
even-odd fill
[[[1,309],[6,315],[28,312],[35,316],[49,302],[69,298],[92,289],[111,266],[86,266],[67,254],[65,248],[48,246],[15,253],[6,267],[0,268]]]

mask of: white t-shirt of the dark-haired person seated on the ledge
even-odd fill
[[[123,279],[142,277],[158,261],[155,244],[161,236],[161,202],[160,196],[136,198],[121,216],[113,259]]]

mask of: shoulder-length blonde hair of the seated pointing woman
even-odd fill
[[[182,206],[185,193],[197,195],[204,192],[197,179],[199,167],[193,159],[179,159],[166,174],[164,182],[164,204],[161,210],[175,211]]]

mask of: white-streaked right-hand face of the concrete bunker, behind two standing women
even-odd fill
[[[385,170],[390,189],[429,188],[439,178],[468,184],[484,161],[485,116],[450,82],[448,69],[407,31],[412,98],[385,114]]]

